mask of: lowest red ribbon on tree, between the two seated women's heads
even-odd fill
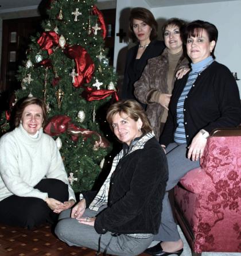
[[[96,131],[77,127],[71,122],[71,118],[69,118],[67,115],[55,115],[54,117],[52,117],[48,125],[45,126],[44,131],[50,136],[57,136],[61,133],[67,132],[68,134],[71,134],[72,140],[75,142],[80,136],[86,139],[92,137],[92,135],[96,135],[96,137],[98,137],[98,140],[95,141],[95,149],[107,148],[108,146],[110,146],[110,143],[107,141],[106,138],[100,136],[100,134]]]

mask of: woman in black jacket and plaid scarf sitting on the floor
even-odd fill
[[[138,255],[157,234],[168,179],[164,150],[151,131],[141,105],[134,100],[114,103],[107,121],[123,142],[99,192],[85,192],[63,212],[56,234],[68,245],[111,255]]]

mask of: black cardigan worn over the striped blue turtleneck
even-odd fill
[[[177,127],[177,102],[184,89],[188,74],[177,80],[169,104],[168,119],[160,138],[167,146],[174,140]],[[241,123],[239,89],[230,70],[213,61],[197,77],[184,102],[184,125],[187,144],[204,129],[235,127]]]

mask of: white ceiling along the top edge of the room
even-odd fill
[[[42,0],[1,0],[0,13],[8,13],[11,11],[33,10]],[[122,0],[123,1],[123,0]],[[189,5],[193,3],[211,3],[235,0],[145,0],[150,7]],[[98,0],[98,2],[116,2],[116,0]]]

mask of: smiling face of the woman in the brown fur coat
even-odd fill
[[[164,32],[164,41],[170,53],[178,53],[182,49],[180,30],[176,25],[168,25]]]

